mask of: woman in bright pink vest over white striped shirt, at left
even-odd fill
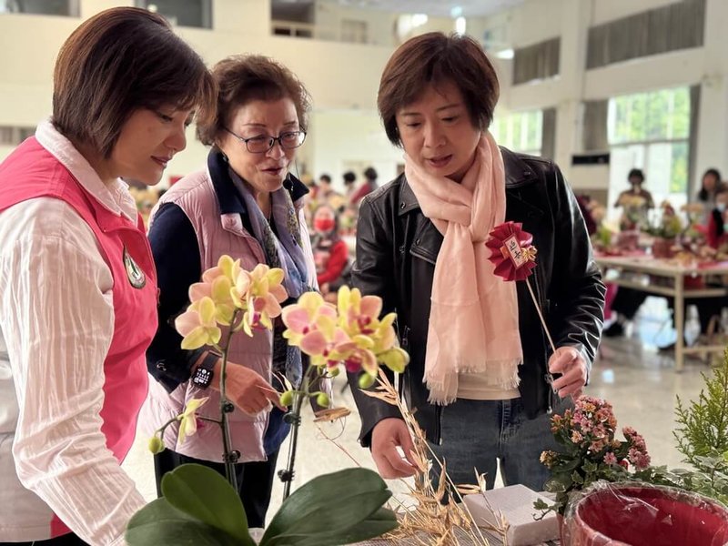
[[[121,470],[147,396],[157,274],[121,177],[157,184],[213,109],[160,15],[112,8],[61,48],[53,115],[0,164],[0,543],[126,544]]]

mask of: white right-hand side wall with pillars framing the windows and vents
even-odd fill
[[[571,155],[581,152],[583,100],[696,84],[702,87],[695,150],[696,176],[699,177],[707,167],[728,172],[728,55],[724,28],[728,20],[728,2],[706,0],[703,47],[633,59],[589,71],[583,68],[590,26],[674,1],[529,0],[498,15],[469,19],[469,34],[480,39],[484,30],[499,29],[500,35],[505,35],[515,48],[561,36],[561,74],[520,86],[511,86],[510,78],[501,80],[501,103],[510,111],[557,108],[556,160],[573,186],[588,188],[609,184],[607,167],[570,165]]]

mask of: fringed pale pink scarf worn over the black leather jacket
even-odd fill
[[[490,133],[483,134],[460,184],[405,159],[405,176],[423,214],[444,236],[432,282],[425,359],[430,402],[455,401],[459,372],[482,374],[494,388],[515,389],[523,360],[516,284],[493,274],[485,246],[490,230],[505,219],[501,150]]]

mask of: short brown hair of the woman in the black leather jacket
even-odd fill
[[[473,126],[481,131],[490,126],[500,86],[482,47],[470,36],[430,32],[400,45],[381,75],[377,106],[392,144],[401,146],[399,109],[416,101],[426,86],[445,82],[460,89]]]

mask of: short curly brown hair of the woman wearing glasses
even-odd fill
[[[310,96],[286,66],[267,56],[228,56],[213,67],[212,75],[218,88],[217,108],[215,116],[206,116],[206,123],[197,124],[197,137],[203,144],[215,144],[234,110],[253,100],[290,98],[296,106],[298,126],[306,130]]]

